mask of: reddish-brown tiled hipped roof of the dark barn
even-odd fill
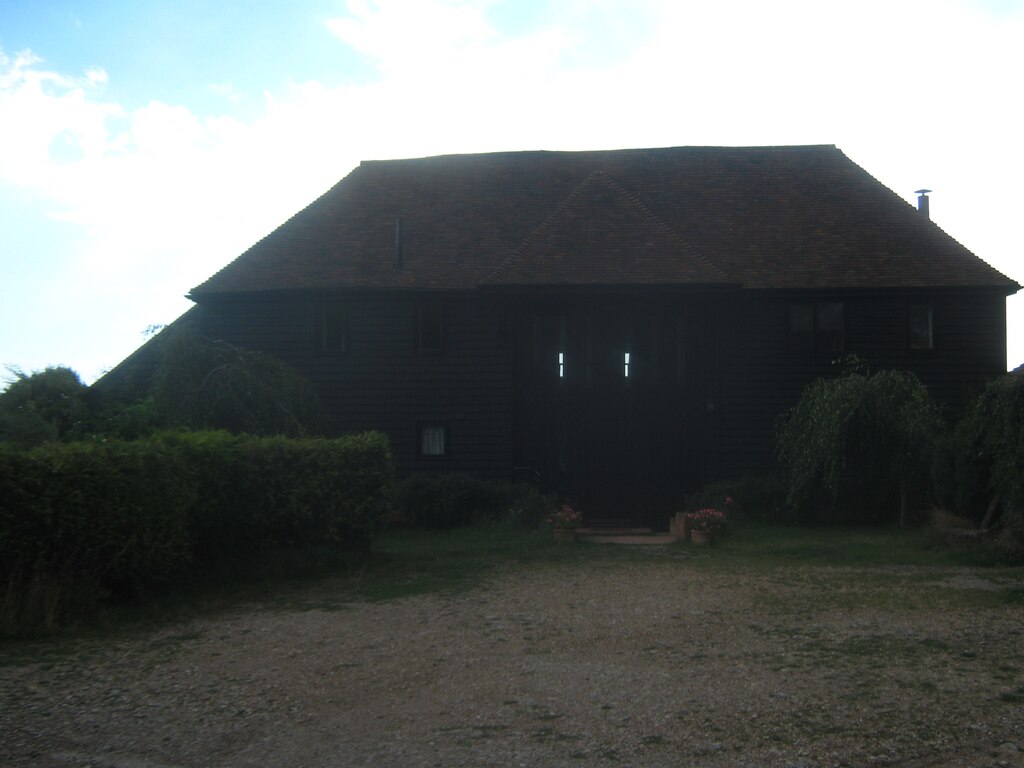
[[[709,284],[1019,288],[822,145],[365,162],[193,293]]]

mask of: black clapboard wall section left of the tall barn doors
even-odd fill
[[[346,345],[323,352],[317,313],[342,302]],[[421,306],[444,317],[441,352],[417,349]],[[511,473],[511,350],[501,312],[476,298],[430,295],[276,296],[211,304],[204,331],[273,354],[315,386],[337,432],[378,429],[391,439],[403,472],[470,472],[506,479]],[[422,423],[443,423],[449,455],[421,457]]]

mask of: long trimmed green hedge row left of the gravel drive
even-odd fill
[[[392,475],[379,433],[0,447],[0,628],[274,550],[366,550]]]

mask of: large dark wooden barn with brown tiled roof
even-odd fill
[[[664,524],[844,353],[965,401],[1018,288],[835,146],[677,147],[362,163],[190,298],[401,472]]]

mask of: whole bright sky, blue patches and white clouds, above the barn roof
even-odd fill
[[[1022,40],[1024,0],[5,2],[0,379],[95,380],[360,160],[836,144],[1024,284]]]

